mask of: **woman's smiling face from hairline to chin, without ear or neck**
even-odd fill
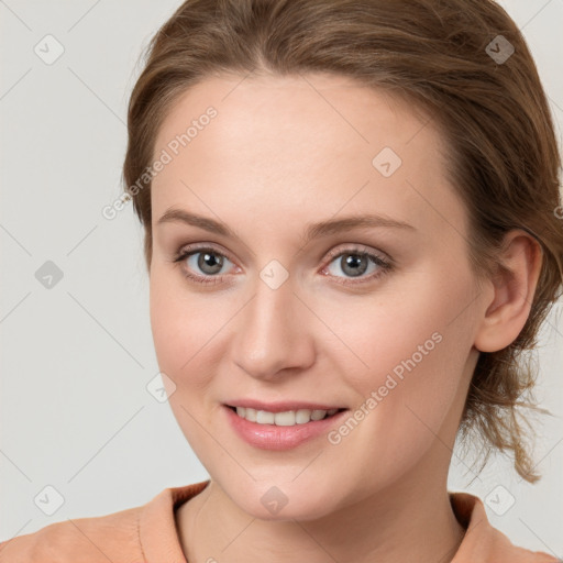
[[[478,291],[432,121],[342,77],[241,80],[201,81],[159,130],[152,330],[212,481],[253,516],[310,519],[446,470]],[[228,407],[256,401],[302,412]],[[319,406],[345,410],[305,422]]]

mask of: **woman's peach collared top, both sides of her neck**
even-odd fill
[[[188,563],[176,529],[175,509],[203,490],[209,481],[165,488],[145,505],[106,516],[51,523],[0,543],[1,563]],[[466,529],[452,563],[561,563],[543,551],[514,545],[487,519],[483,501],[451,493]]]

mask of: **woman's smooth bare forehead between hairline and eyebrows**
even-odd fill
[[[203,119],[209,108],[216,114]],[[153,220],[178,203],[256,221],[266,209],[306,221],[311,211],[371,208],[415,225],[442,207],[463,221],[443,146],[430,115],[346,77],[210,77],[178,98],[158,131],[155,157],[166,151],[172,161],[153,181]]]

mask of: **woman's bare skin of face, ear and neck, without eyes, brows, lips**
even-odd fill
[[[442,136],[389,95],[321,74],[207,78],[173,106],[154,154],[209,106],[218,115],[152,188],[156,355],[211,478],[176,512],[188,561],[450,561],[464,529],[446,479],[471,376],[479,351],[505,347],[523,327],[537,244],[509,233],[507,273],[477,285]],[[390,177],[372,164],[385,146],[402,159]],[[240,240],[158,224],[173,207],[219,220]],[[413,229],[356,228],[302,245],[309,223],[364,212]],[[188,244],[225,256],[222,280],[185,277],[213,277],[198,254],[174,263]],[[368,280],[380,272],[368,263],[364,283],[349,284],[358,278],[327,253],[358,245],[394,267]],[[260,277],[272,260],[288,274],[277,289]],[[354,411],[435,332],[441,342],[336,445],[322,435],[260,450],[227,423],[221,404],[246,397]],[[273,486],[287,498],[277,514],[261,501]]]

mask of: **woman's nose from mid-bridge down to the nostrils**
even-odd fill
[[[319,321],[289,280],[276,289],[260,280],[239,316],[235,364],[261,379],[307,369],[314,362],[313,322]]]

